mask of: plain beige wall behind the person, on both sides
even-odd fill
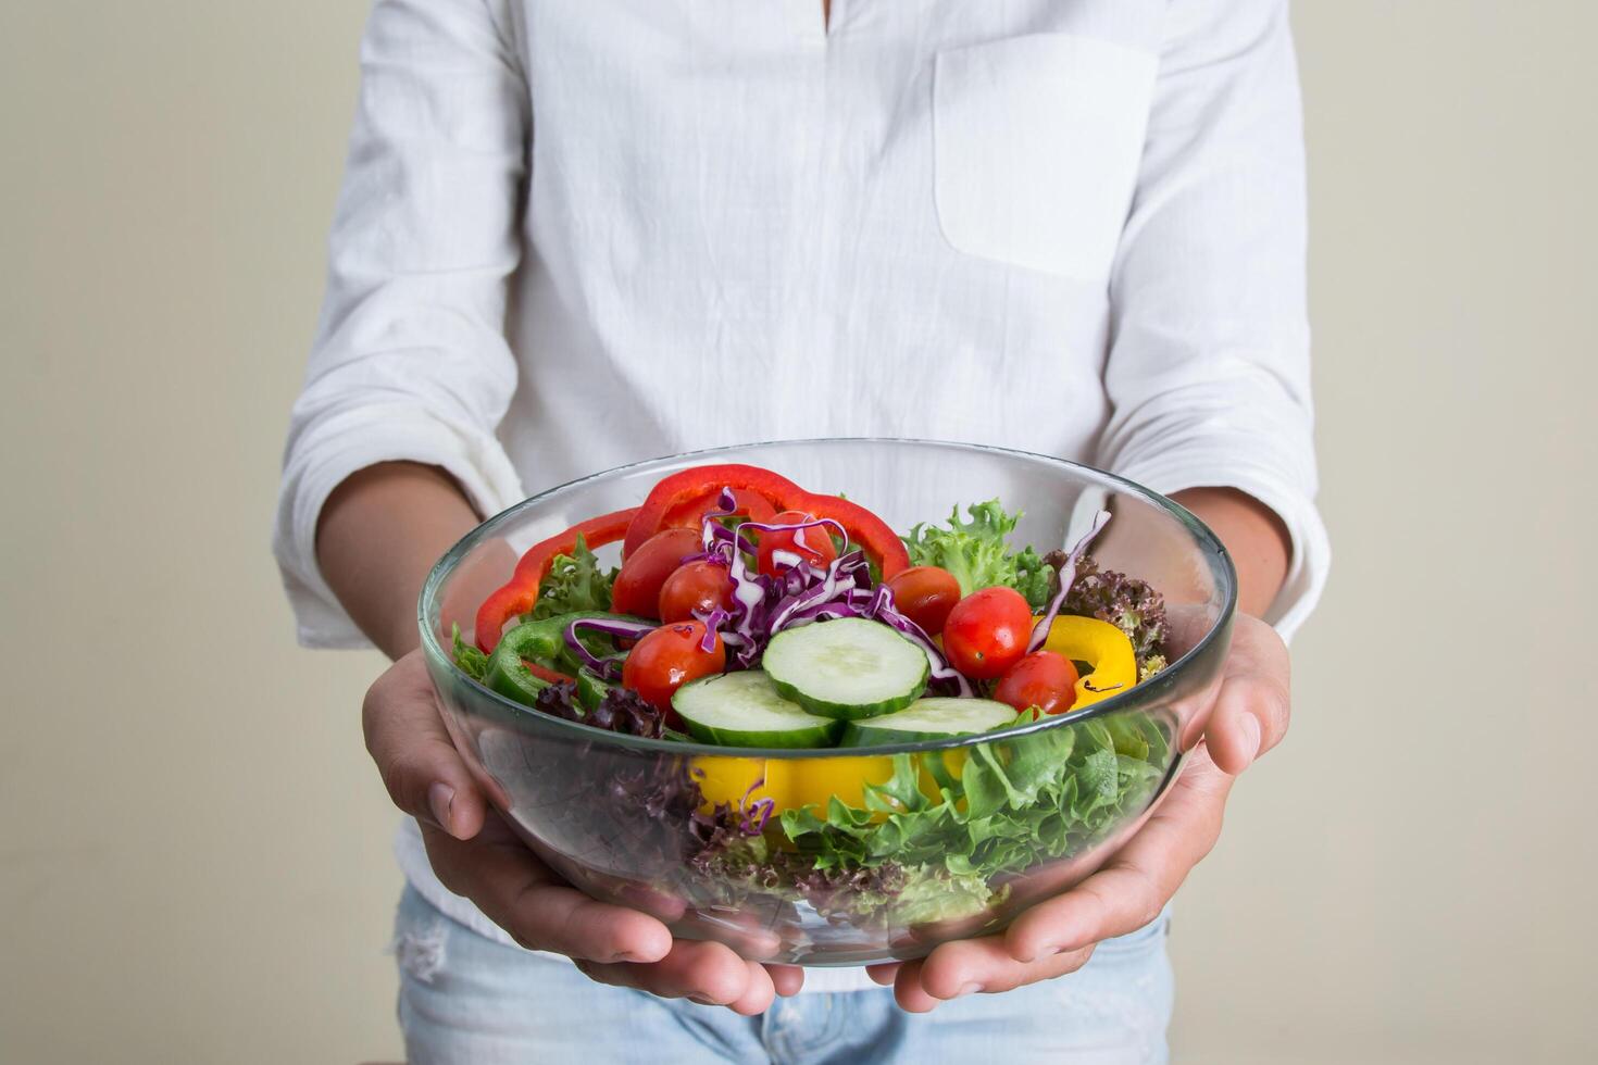
[[[363,16],[0,5],[0,1060],[398,1055],[379,659],[267,556]],[[1178,1060],[1592,1060],[1598,8],[1296,21],[1338,562]]]

